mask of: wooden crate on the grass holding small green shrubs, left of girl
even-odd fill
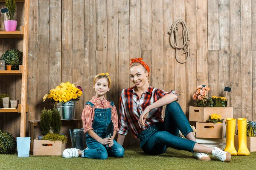
[[[48,146],[43,146],[48,144]],[[51,145],[51,146],[49,146]],[[61,156],[63,150],[66,149],[66,143],[61,141],[48,141],[48,140],[34,140],[34,155],[59,155]]]

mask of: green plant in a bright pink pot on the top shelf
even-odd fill
[[[9,13],[6,14],[7,20],[4,21],[4,28],[6,31],[16,31],[17,21],[14,20],[16,13],[15,0],[6,0],[5,6],[8,8]]]

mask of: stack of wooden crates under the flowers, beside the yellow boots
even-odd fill
[[[212,114],[221,115],[224,123],[207,123]],[[226,147],[226,118],[233,118],[233,108],[189,107],[189,121],[196,122],[196,141],[208,147]]]

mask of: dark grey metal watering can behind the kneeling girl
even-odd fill
[[[84,130],[81,129],[73,129],[73,132],[70,131],[70,138],[72,147],[76,147],[77,149],[84,150],[85,149],[85,139],[84,139]]]

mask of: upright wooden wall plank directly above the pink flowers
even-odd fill
[[[207,3],[197,0],[197,85],[208,85],[208,42],[207,42]]]

